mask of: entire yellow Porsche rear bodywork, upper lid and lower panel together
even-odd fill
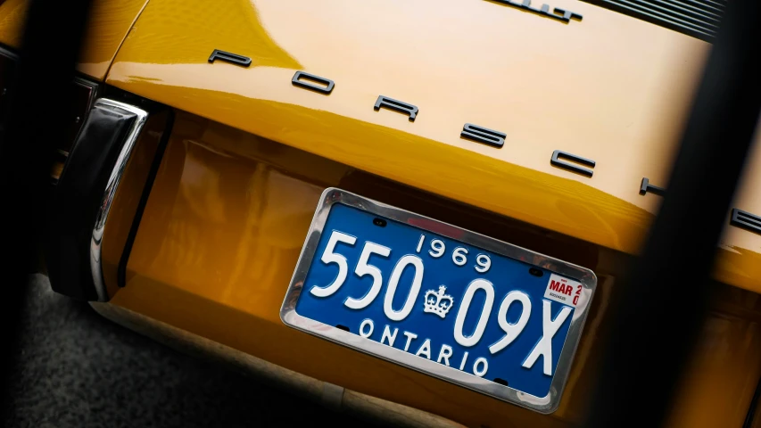
[[[468,426],[580,424],[610,294],[661,202],[641,180],[667,186],[711,45],[596,4],[551,2],[583,20],[486,0],[95,2],[79,72],[176,114],[123,288],[131,218],[120,207],[142,189],[114,198],[103,237],[113,294],[96,309],[340,385],[344,402],[351,390]],[[25,6],[0,5],[3,45],[19,47]],[[215,49],[251,65],[210,62]],[[299,70],[335,88],[294,86]],[[418,106],[417,117],[376,111],[379,95]],[[504,147],[460,138],[463,123],[504,131]],[[755,145],[733,207],[759,215]],[[553,166],[558,150],[595,161],[593,175]],[[541,415],[284,325],[280,306],[332,186],[593,270],[598,290],[558,410]],[[730,215],[721,284],[669,426],[739,428],[755,406],[761,235]]]

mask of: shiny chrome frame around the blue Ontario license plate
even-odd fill
[[[511,259],[523,260],[526,263],[548,269],[562,276],[574,278],[581,282],[583,285],[582,299],[576,306],[576,310],[571,319],[571,325],[568,329],[566,342],[563,346],[563,350],[560,351],[558,366],[555,369],[555,376],[552,378],[552,383],[550,383],[550,393],[545,397],[534,397],[533,395],[517,391],[508,386],[501,385],[500,383],[493,383],[488,379],[459,371],[456,368],[443,366],[442,364],[438,364],[435,361],[426,358],[416,357],[409,352],[397,350],[379,342],[361,337],[360,335],[345,332],[332,325],[325,325],[313,319],[302,317],[296,313],[296,302],[301,295],[304,279],[307,276],[312,259],[314,259],[315,251],[317,251],[319,238],[320,235],[322,235],[327,216],[330,213],[331,207],[335,203],[342,203],[350,207],[359,208],[360,210],[366,210],[378,216],[391,218],[410,226],[414,226],[414,223],[416,222],[420,224],[418,220],[425,219],[426,221],[446,226],[441,228],[443,232],[437,230],[435,232],[436,234],[444,235],[464,243],[469,243],[483,248],[484,250],[499,253]],[[414,227],[420,228],[419,226]],[[570,374],[576,347],[579,344],[583,325],[589,313],[591,299],[596,287],[597,276],[595,276],[594,272],[590,269],[582,268],[563,260],[554,259],[538,252],[526,250],[525,248],[505,243],[489,236],[476,234],[475,232],[443,223],[434,218],[427,218],[407,210],[400,210],[384,203],[372,201],[357,194],[331,187],[327,188],[325,192],[322,193],[318,208],[314,218],[312,218],[310,231],[302,248],[302,253],[299,256],[299,261],[296,264],[296,269],[294,271],[294,276],[291,279],[288,292],[285,294],[283,306],[280,309],[280,319],[282,319],[285,325],[290,325],[303,332],[346,345],[376,357],[387,359],[401,366],[406,366],[413,370],[417,370],[418,372],[433,375],[444,381],[458,384],[470,390],[492,396],[496,399],[508,401],[542,414],[550,414],[554,412],[560,404],[560,398],[563,394],[563,389],[566,386],[568,375]]]

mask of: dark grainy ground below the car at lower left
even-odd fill
[[[20,321],[9,428],[362,424],[116,325],[40,274]]]

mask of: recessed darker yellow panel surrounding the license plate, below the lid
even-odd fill
[[[283,325],[280,305],[327,186],[592,268],[600,278],[599,292],[558,411],[542,416]],[[104,240],[108,228],[106,234]],[[111,252],[103,257],[106,264],[118,262]],[[598,336],[625,259],[605,247],[179,112],[129,259],[127,286],[112,304],[299,373],[470,426],[566,427],[580,423],[589,404],[603,350]],[[711,426],[716,420],[739,427],[761,370],[759,296],[729,286],[720,291],[682,387],[675,427]],[[715,406],[701,404],[712,394],[718,397]]]

